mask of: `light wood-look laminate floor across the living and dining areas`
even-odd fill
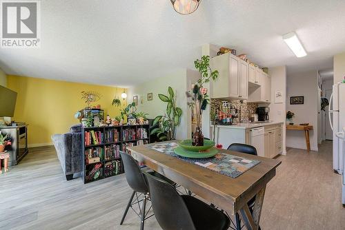
[[[268,183],[262,229],[345,229],[341,176],[332,170],[332,144],[319,152],[288,149]],[[83,185],[66,181],[53,147],[30,149],[7,174],[0,175],[0,229],[139,229],[128,211],[130,197],[124,175]],[[160,229],[155,218],[145,229]]]

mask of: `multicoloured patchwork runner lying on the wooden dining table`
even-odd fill
[[[233,156],[231,154],[223,154],[221,152],[212,158],[185,158],[174,153],[174,149],[178,147],[175,142],[153,143],[146,145],[146,147],[163,154],[168,154],[169,156],[174,156],[187,161],[188,163],[206,167],[207,169],[217,171],[219,174],[230,176],[232,178],[241,176],[244,172],[260,163],[259,160],[249,160],[247,158]]]

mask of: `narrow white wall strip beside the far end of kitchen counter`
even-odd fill
[[[270,75],[270,120],[284,122],[283,154],[286,154],[286,66],[268,68]],[[275,103],[275,92],[279,90],[284,97],[283,103]]]

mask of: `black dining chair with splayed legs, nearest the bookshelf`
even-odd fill
[[[122,162],[124,163],[126,180],[128,182],[128,185],[133,189],[132,195],[130,196],[130,200],[124,212],[124,216],[122,216],[120,225],[124,223],[128,209],[133,209],[133,205],[138,205],[139,213],[137,213],[135,209],[133,209],[133,211],[135,211],[137,216],[139,216],[139,218],[141,219],[140,229],[143,230],[145,220],[152,216],[148,216],[148,211],[150,211],[150,209],[146,211],[146,202],[150,200],[148,184],[146,179],[144,178],[143,171],[141,171],[141,169],[137,165],[137,160],[130,156],[130,154],[126,154],[123,151],[120,151],[120,155]],[[147,173],[153,176],[157,176],[157,178],[161,178],[162,180],[166,180],[169,185],[175,186],[175,182],[169,180],[165,176],[155,171],[148,171]],[[135,200],[133,201],[133,199]],[[142,202],[141,207],[140,202]]]

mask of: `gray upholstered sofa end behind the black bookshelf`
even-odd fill
[[[81,140],[81,125],[70,127],[67,134],[52,135],[52,143],[57,150],[63,173],[66,180],[72,180],[80,176],[83,171],[83,152]]]

